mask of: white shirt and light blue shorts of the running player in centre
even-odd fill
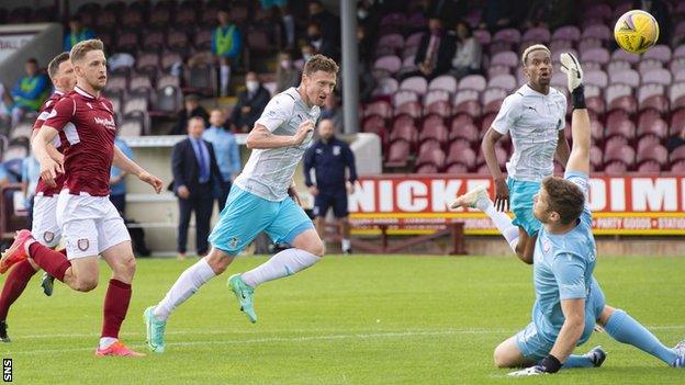
[[[316,122],[319,112],[290,88],[271,99],[256,124],[273,135],[293,136],[304,121]],[[314,228],[302,207],[288,196],[295,168],[311,141],[308,134],[297,146],[252,150],[210,235],[212,246],[235,256],[261,231],[276,242],[292,244],[297,235]]]

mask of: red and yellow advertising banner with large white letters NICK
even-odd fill
[[[480,211],[448,208],[457,195],[483,184],[494,196],[485,175],[364,177],[349,196],[350,220],[358,233],[388,225],[395,234],[426,234],[463,222],[465,234],[498,234]],[[685,235],[685,177],[592,177],[588,201],[595,235]]]

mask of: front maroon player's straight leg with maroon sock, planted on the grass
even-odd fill
[[[112,278],[104,295],[102,331],[96,355],[141,356],[144,354],[130,350],[119,340],[119,331],[131,304],[136,269],[131,236],[112,202],[103,197],[98,200],[98,204],[102,217],[96,224],[98,251],[112,269]]]

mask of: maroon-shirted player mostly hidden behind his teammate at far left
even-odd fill
[[[64,98],[65,94],[71,92],[76,84],[76,77],[74,76],[74,68],[71,67],[71,61],[69,61],[68,53],[61,53],[55,56],[47,66],[47,72],[55,86],[55,92],[43,103],[41,114],[33,125],[32,136],[43,126],[43,122],[45,122],[45,118],[53,111],[55,104]],[[55,138],[53,146],[49,146],[50,157],[59,163],[64,162],[64,156],[61,155],[64,151],[64,140]],[[59,194],[59,190],[61,190],[63,181],[64,174],[59,174],[56,180],[57,186],[50,188],[40,180],[35,191],[33,228],[31,233],[37,241],[49,248],[55,248],[59,245],[59,239],[61,237],[61,230],[57,225],[55,211],[57,207],[57,195]],[[3,265],[0,265],[0,272],[2,273],[5,272],[3,268]],[[5,321],[10,306],[19,298],[37,270],[38,267],[31,260],[24,260],[16,263],[4,281],[2,293],[0,293],[0,341],[11,341],[7,332]],[[44,275],[42,286],[46,295],[52,295],[53,280],[50,275]]]

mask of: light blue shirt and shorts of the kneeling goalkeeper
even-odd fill
[[[566,172],[565,178],[581,188],[587,201],[587,175]],[[573,230],[554,235],[540,228],[534,253],[532,322],[517,335],[524,355],[541,359],[552,349],[564,322],[562,299],[585,298],[585,329],[579,344],[589,338],[604,308],[604,294],[593,276],[596,254],[587,203]]]

